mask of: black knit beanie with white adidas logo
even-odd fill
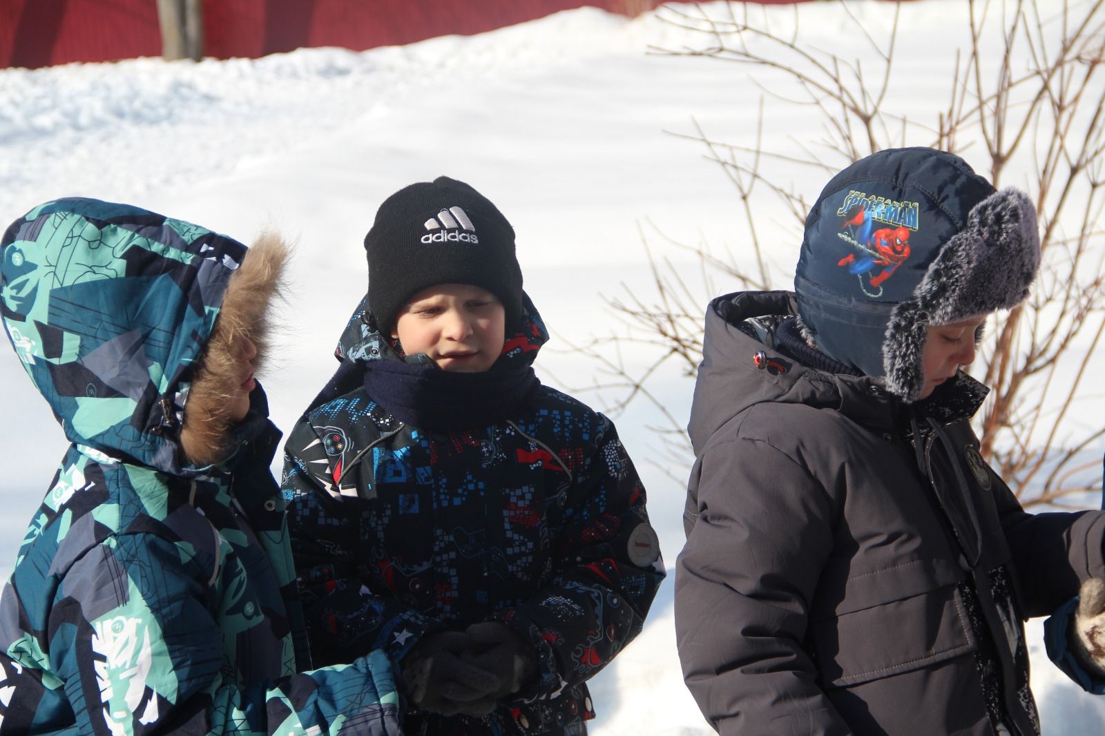
[[[368,308],[389,333],[407,301],[434,284],[474,284],[498,297],[506,324],[522,316],[514,228],[475,189],[449,177],[419,181],[383,200],[365,235]]]

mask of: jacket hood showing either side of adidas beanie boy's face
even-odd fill
[[[508,361],[516,365],[533,365],[537,353],[549,339],[545,322],[529,295],[522,293],[522,315],[506,327],[506,341],[496,366]],[[393,340],[380,332],[368,309],[368,296],[361,298],[346,324],[334,350],[338,360],[365,362],[369,360],[401,360],[421,364],[429,361],[424,355],[403,356],[392,345]]]

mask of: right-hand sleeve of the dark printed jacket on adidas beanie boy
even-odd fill
[[[549,582],[495,618],[538,653],[539,681],[519,698],[552,695],[601,670],[644,624],[664,578],[645,493],[618,432],[601,414],[554,525]],[[571,454],[571,453],[566,453]],[[559,456],[559,455],[558,455]]]

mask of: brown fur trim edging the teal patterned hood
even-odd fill
[[[260,368],[266,356],[270,306],[281,292],[287,256],[287,244],[280,235],[262,233],[230,276],[185,403],[180,444],[192,465],[211,465],[233,451],[228,442],[232,423],[228,404],[238,380],[234,346],[240,336],[253,341],[257,346],[253,364]]]

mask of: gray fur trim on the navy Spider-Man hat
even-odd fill
[[[1032,200],[1007,188],[976,204],[967,225],[928,266],[913,298],[891,313],[883,343],[887,389],[915,401],[925,387],[922,353],[928,327],[1017,306],[1028,298],[1039,267]]]

